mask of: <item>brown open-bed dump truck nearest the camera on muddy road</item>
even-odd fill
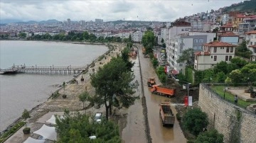
[[[160,103],[159,107],[160,107],[159,115],[162,120],[163,126],[165,125],[174,126],[175,116],[171,110],[170,103]]]

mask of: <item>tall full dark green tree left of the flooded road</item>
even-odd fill
[[[106,118],[112,114],[112,105],[117,108],[128,108],[138,98],[132,96],[138,85],[134,80],[134,74],[127,70],[126,63],[121,57],[113,57],[109,63],[99,68],[97,73],[90,76],[91,84],[95,87],[95,103],[105,105]]]

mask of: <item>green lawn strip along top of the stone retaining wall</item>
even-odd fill
[[[213,91],[218,93],[220,97],[224,98],[224,86],[211,86]],[[231,103],[234,103],[234,98],[235,96],[231,93],[228,93],[227,91],[225,92],[225,101],[229,101]],[[255,104],[256,101],[254,102],[249,102],[249,101],[243,101],[242,99],[238,98],[238,106],[241,108],[246,108],[248,105]]]

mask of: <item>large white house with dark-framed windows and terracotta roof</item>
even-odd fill
[[[235,47],[228,42],[213,41],[203,45],[203,52],[195,53],[195,70],[213,68],[218,62],[230,60],[235,57]]]

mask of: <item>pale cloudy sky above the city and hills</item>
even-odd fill
[[[241,0],[0,0],[0,21],[174,21]]]

